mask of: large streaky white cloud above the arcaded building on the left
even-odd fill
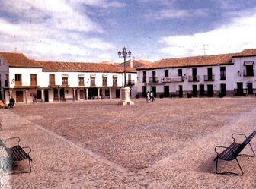
[[[59,61],[71,61],[71,58],[72,61],[102,61],[101,58],[110,58],[114,45],[98,38],[97,33],[104,33],[102,27],[76,7],[124,5],[107,0],[8,0],[1,3],[0,38],[3,40],[0,50],[17,49],[30,58]]]

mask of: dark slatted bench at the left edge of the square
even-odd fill
[[[17,145],[12,146],[12,147],[7,147],[6,143],[8,140],[18,140]],[[28,159],[29,162],[29,166],[30,166],[30,170],[29,172],[31,172],[31,163],[30,161],[32,161],[32,159],[30,158],[30,152],[31,152],[31,148],[26,146],[26,147],[21,147],[20,146],[20,141],[21,139],[19,137],[11,137],[5,140],[5,143],[2,142],[2,140],[0,140],[0,146],[3,146],[3,148],[5,148],[6,153],[8,154],[8,159],[10,159],[13,162],[16,161],[22,161],[24,159]],[[26,152],[27,151],[27,152]]]

